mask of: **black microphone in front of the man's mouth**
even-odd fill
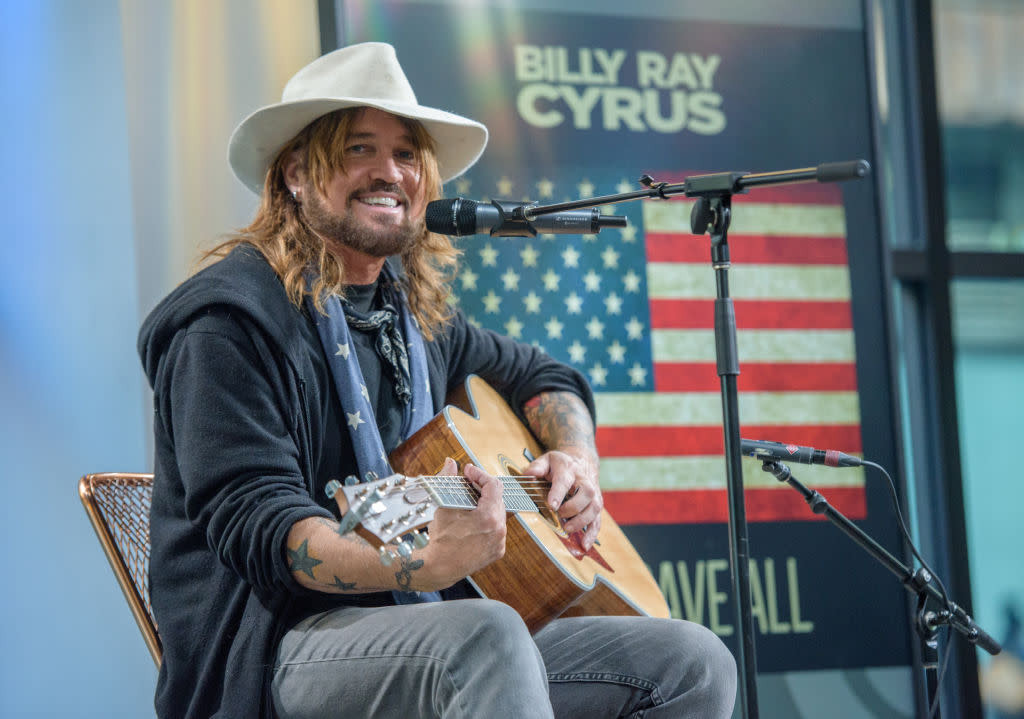
[[[482,235],[501,238],[534,238],[553,235],[596,235],[602,227],[625,227],[623,215],[602,215],[598,209],[550,212],[527,217],[537,203],[493,200],[489,204],[463,198],[427,203],[427,229],[438,235]]]

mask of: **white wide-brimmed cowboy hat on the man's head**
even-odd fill
[[[302,128],[335,110],[360,107],[420,121],[434,138],[442,182],[472,167],[487,144],[480,123],[417,102],[394,48],[367,42],[329,52],[296,73],[281,102],[257,110],[234,129],[227,161],[259,195],[270,163]]]

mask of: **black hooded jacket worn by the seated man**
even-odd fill
[[[332,603],[390,593],[302,588],[285,558],[292,524],[335,516],[329,479],[356,473],[316,329],[254,248],[242,246],[150,314],[138,350],[154,390],[150,589],[164,647],[160,717],[272,716],[282,633]],[[434,410],[477,374],[513,408],[541,391],[593,400],[583,377],[458,314],[426,343]]]

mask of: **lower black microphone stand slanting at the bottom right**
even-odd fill
[[[828,501],[814,490],[802,484],[790,468],[774,459],[763,460],[761,469],[771,472],[779,481],[785,482],[804,496],[804,500],[815,514],[824,514],[833,524],[842,530],[850,539],[859,544],[868,554],[878,559],[887,569],[899,578],[900,582],[911,594],[918,595],[918,610],[913,628],[921,638],[922,659],[925,666],[925,683],[927,687],[928,706],[932,707],[939,689],[938,676],[938,630],[942,625],[948,625],[963,634],[969,642],[977,644],[990,654],[1002,650],[999,643],[986,634],[974,623],[971,616],[958,604],[948,600],[932,586],[932,574],[925,567],[911,572],[910,567],[886,551],[882,545],[871,539],[867,533],[850,521],[836,510]],[[937,609],[928,608],[928,600],[938,602]],[[938,708],[935,717],[940,716]]]

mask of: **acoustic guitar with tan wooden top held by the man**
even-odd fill
[[[568,535],[546,505],[549,484],[519,476],[542,454],[530,431],[508,404],[476,376],[451,403],[391,453],[395,474],[371,482],[331,482],[342,510],[343,533],[354,531],[387,562],[425,546],[420,532],[437,507],[472,508],[477,493],[463,477],[437,474],[451,457],[475,464],[504,483],[510,512],[505,556],[468,579],[484,597],[503,601],[537,632],[558,617],[626,615],[668,617],[669,607],[640,555],[602,511],[601,531],[590,550],[582,533]]]

